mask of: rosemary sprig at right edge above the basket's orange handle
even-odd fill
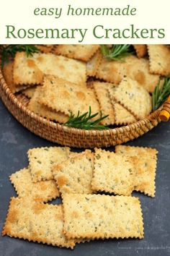
[[[170,78],[166,77],[164,79],[164,84],[161,85],[161,80],[159,80],[158,85],[156,85],[155,90],[152,93],[152,106],[153,111],[158,109],[168,98],[170,94]]]

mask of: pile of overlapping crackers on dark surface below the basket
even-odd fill
[[[140,200],[154,197],[157,151],[118,145],[95,148],[32,148],[29,166],[10,176],[12,197],[3,235],[73,248],[93,239],[142,239]],[[62,203],[48,203],[61,196]]]

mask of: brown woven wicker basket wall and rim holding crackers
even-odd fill
[[[153,127],[156,127],[161,121],[159,119],[161,108],[159,108],[145,119],[115,129],[99,131],[69,128],[32,113],[27,108],[26,98],[23,95],[14,95],[11,90],[9,90],[1,70],[0,84],[1,100],[12,115],[24,127],[34,132],[35,135],[39,135],[46,140],[57,142],[61,145],[76,148],[109,147],[134,140],[153,129]]]

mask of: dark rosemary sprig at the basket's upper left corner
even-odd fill
[[[14,57],[17,51],[25,51],[27,57],[32,56],[33,53],[39,52],[39,49],[34,45],[20,45],[9,44],[8,46],[0,46],[1,49],[1,67],[4,67],[4,63],[9,61],[9,57]]]

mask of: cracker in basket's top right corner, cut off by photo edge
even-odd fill
[[[170,48],[164,45],[148,45],[150,71],[162,76],[170,75]]]

